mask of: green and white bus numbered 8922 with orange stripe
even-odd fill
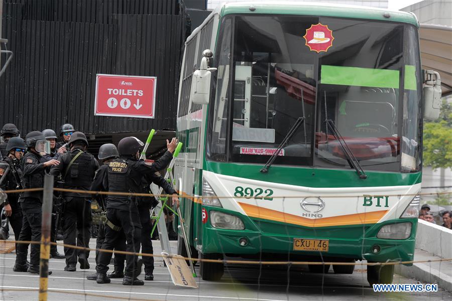
[[[194,196],[181,207],[194,256],[413,260],[422,118],[440,98],[418,27],[405,12],[262,1],[223,4],[193,31],[175,181]],[[216,280],[224,266],[200,269]],[[368,280],[393,270],[369,266]]]

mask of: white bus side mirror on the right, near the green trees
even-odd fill
[[[424,70],[424,78],[424,118],[437,119],[441,106],[441,78],[439,73],[433,70]]]

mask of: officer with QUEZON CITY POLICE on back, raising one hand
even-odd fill
[[[167,140],[168,152],[159,160],[138,160],[144,143],[136,137],[123,138],[118,144],[120,158],[108,164],[108,191],[109,192],[141,192],[142,177],[153,175],[156,171],[165,168],[171,159],[172,153],[177,145],[177,139],[171,142]],[[138,212],[139,199],[132,196],[108,196],[107,201],[107,226],[105,227],[105,240],[102,249],[112,250],[117,245],[118,239],[127,241],[127,251],[137,252],[141,242],[141,222]],[[123,230],[123,231],[121,231]],[[144,282],[136,277],[137,267],[136,255],[126,256],[126,272],[123,279],[124,285],[143,285]],[[106,276],[111,253],[99,254],[96,266],[97,283],[109,283]]]

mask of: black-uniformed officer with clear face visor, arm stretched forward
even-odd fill
[[[24,189],[43,188],[46,169],[59,164],[57,160],[47,161],[43,154],[50,152],[49,141],[40,131],[29,132],[25,137],[25,145],[28,152],[22,158],[23,176],[22,185]],[[41,219],[42,219],[42,191],[23,192],[20,196],[22,212],[22,230],[19,240],[41,241]],[[39,274],[39,244],[32,244],[30,249],[30,266],[28,272]],[[27,263],[28,245],[18,244],[16,250],[16,266],[25,267]],[[49,270],[49,275],[51,271]]]

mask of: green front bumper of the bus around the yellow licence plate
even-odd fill
[[[220,211],[223,210],[220,209]],[[231,213],[226,210],[224,212]],[[243,257],[253,257],[253,254],[261,252],[291,254],[291,260],[294,260],[293,258],[320,257],[321,255],[325,258],[349,258],[375,262],[412,261],[414,258],[416,218],[394,219],[376,224],[310,228],[263,219],[251,219],[237,213],[235,215],[242,219],[245,230],[213,228],[210,222],[203,225],[203,253],[224,253],[228,256]],[[412,224],[409,238],[403,240],[377,238],[381,227],[400,222]],[[243,238],[248,241],[244,246],[240,244],[240,240]],[[293,250],[295,238],[327,239],[328,251],[295,251]],[[377,249],[378,252],[373,251],[374,249]],[[412,265],[412,263],[405,263],[405,265]]]

